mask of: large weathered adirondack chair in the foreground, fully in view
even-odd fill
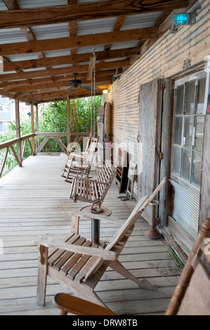
[[[81,211],[72,214],[71,234],[65,237],[63,241],[49,236],[38,237],[38,305],[45,305],[46,279],[47,276],[50,276],[56,282],[67,286],[79,298],[106,307],[94,292],[94,289],[108,266],[124,277],[136,282],[140,288],[157,289],[147,282],[146,279],[139,280],[134,277],[131,272],[124,268],[117,258],[129,239],[136,220],[152,199],[155,198],[157,192],[159,192],[165,182],[166,178],[162,180],[162,183],[159,184],[149,198],[143,197],[140,199],[125,223],[122,224],[122,221],[117,222],[118,224],[122,224],[121,227],[103,249],[95,248],[86,238],[79,236],[79,218],[81,216],[85,216],[87,219],[92,218],[90,213],[83,213]],[[95,216],[98,220],[116,223],[116,221],[109,217]],[[54,249],[51,253],[48,253],[49,247]]]

